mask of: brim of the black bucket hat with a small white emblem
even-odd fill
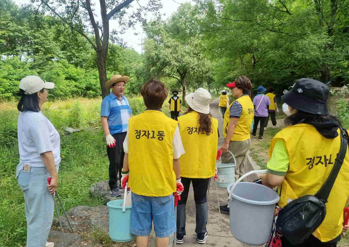
[[[306,97],[302,97],[299,94],[295,94],[289,91],[285,95],[281,96],[281,99],[292,108],[297,110],[317,114],[317,115],[327,115],[327,104],[326,101],[319,102],[318,100],[312,100]]]

